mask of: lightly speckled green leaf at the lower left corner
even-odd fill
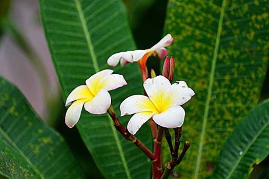
[[[84,178],[64,138],[38,119],[18,89],[2,77],[0,89],[0,150],[40,178]]]

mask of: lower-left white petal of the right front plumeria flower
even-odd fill
[[[132,118],[127,124],[127,129],[132,135],[135,135],[135,133],[138,131],[138,129],[145,123],[147,122],[155,112],[141,112],[137,113]]]

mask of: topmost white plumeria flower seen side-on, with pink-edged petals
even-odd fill
[[[135,50],[127,52],[119,52],[111,55],[108,58],[108,65],[116,66],[119,61],[121,66],[124,66],[128,62],[138,61],[141,65],[146,65],[147,59],[153,55],[158,58],[164,58],[167,55],[167,49],[164,47],[169,46],[173,42],[173,37],[171,34],[165,35],[155,46],[147,50]],[[141,60],[140,60],[141,59]]]

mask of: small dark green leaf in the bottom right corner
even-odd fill
[[[220,153],[212,178],[247,178],[269,154],[269,100],[236,126]]]

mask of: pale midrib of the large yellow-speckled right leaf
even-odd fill
[[[222,1],[221,12],[220,12],[220,16],[219,16],[217,37],[216,37],[214,55],[213,55],[213,60],[212,60],[212,65],[211,65],[211,74],[210,74],[208,95],[206,96],[204,116],[203,116],[203,120],[202,120],[201,137],[199,140],[196,168],[195,168],[195,174],[194,174],[195,179],[198,179],[198,174],[199,174],[199,169],[200,169],[202,149],[203,149],[203,140],[204,140],[204,135],[205,135],[206,123],[208,121],[210,97],[212,95],[213,81],[214,81],[214,75],[215,75],[216,63],[217,63],[217,55],[218,55],[218,49],[219,49],[219,43],[220,43],[220,33],[221,33],[221,27],[222,27],[222,23],[223,23],[223,16],[224,16],[224,12],[225,12],[225,1],[226,0]]]

